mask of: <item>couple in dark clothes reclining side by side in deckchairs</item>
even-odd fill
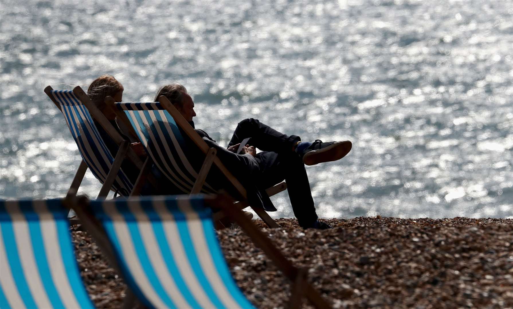
[[[96,107],[102,111],[120,134],[121,131],[115,122],[114,107],[107,106],[104,100],[106,96],[111,96],[114,101],[121,102],[123,90],[123,86],[113,76],[102,75],[93,81],[87,91]],[[196,116],[194,102],[186,88],[180,84],[166,85],[159,90],[155,96],[155,101],[158,101],[162,95],[169,99],[194,128],[194,122],[192,121],[192,118]],[[115,142],[111,140],[106,132],[101,130],[101,126],[96,125],[96,127],[112,155],[115,155],[117,153]],[[328,224],[319,221],[317,213],[315,213],[305,164],[314,165],[343,158],[351,150],[350,141],[301,141],[299,136],[288,136],[280,133],[253,118],[244,119],[238,123],[227,149],[219,146],[205,131],[200,129],[195,129],[195,131],[209,147],[217,150],[219,159],[244,186],[251,183],[258,187],[261,206],[265,210],[276,210],[265,193],[265,189],[286,180],[292,210],[298,219],[299,225],[304,229],[331,228]],[[240,148],[241,141],[247,137],[250,137],[248,145],[244,145],[240,153],[235,153]],[[128,138],[126,139],[128,140]],[[140,142],[132,143],[131,148],[137,155],[146,156]],[[255,148],[262,151],[257,153]],[[201,166],[201,158],[198,158],[198,162]],[[139,173],[128,162],[122,164],[122,169],[131,180],[135,180]],[[155,171],[155,173],[158,172]],[[166,193],[173,194],[174,192],[167,191]]]

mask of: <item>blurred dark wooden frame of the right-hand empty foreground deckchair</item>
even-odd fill
[[[272,241],[262,232],[256,225],[247,218],[241,209],[233,207],[233,200],[224,192],[219,195],[205,196],[205,203],[214,209],[222,209],[233,221],[235,221],[241,229],[249,236],[251,241],[258,246],[267,257],[278,267],[278,269],[291,281],[291,296],[288,301],[288,307],[291,309],[299,308],[303,303],[305,296],[310,303],[319,309],[331,308],[329,303],[307,280],[307,270],[299,269],[285,257],[285,255],[272,243]],[[246,202],[241,202],[246,203]],[[101,222],[94,217],[89,199],[85,196],[76,197],[75,195],[66,198],[66,205],[73,209],[78,216],[83,218],[83,224],[88,232],[96,240],[97,244],[106,255],[111,266],[123,277],[121,267],[117,264],[115,258],[115,249],[112,248],[107,233],[103,229]],[[124,308],[135,307],[133,301],[136,299],[135,294],[129,290],[126,293]]]

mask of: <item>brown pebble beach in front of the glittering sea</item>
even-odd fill
[[[331,230],[253,220],[334,308],[513,308],[513,219],[324,220]],[[121,308],[126,286],[80,226],[71,229],[94,304]],[[218,231],[233,278],[258,308],[284,308],[290,282],[240,229]],[[307,307],[309,306],[306,303]]]

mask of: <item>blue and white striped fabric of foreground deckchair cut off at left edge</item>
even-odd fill
[[[0,308],[93,308],[61,200],[0,201]]]

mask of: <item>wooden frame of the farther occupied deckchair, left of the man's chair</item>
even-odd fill
[[[48,95],[48,97],[52,100],[52,102],[55,104],[55,106],[61,111],[61,105],[51,91],[53,88],[51,86],[47,86],[45,88],[45,93]],[[135,152],[129,147],[130,142],[123,139],[123,137],[112,127],[111,123],[107,118],[105,118],[104,114],[96,108],[96,106],[93,104],[91,99],[87,96],[87,94],[82,90],[80,86],[76,86],[73,88],[73,93],[76,95],[78,99],[82,102],[82,104],[87,108],[91,116],[100,123],[100,125],[103,127],[103,129],[110,135],[110,137],[114,140],[115,143],[120,147],[117,151],[116,156],[114,157],[114,161],[112,162],[112,167],[107,174],[107,177],[102,185],[102,188],[100,190],[100,193],[98,193],[97,198],[106,197],[111,188],[112,184],[114,183],[114,180],[117,176],[117,173],[119,173],[119,170],[121,169],[121,164],[123,163],[123,160],[125,157],[127,157],[134,165],[135,167],[140,169],[139,177],[137,177],[137,180],[133,184],[132,192],[130,192],[130,196],[137,195],[140,193],[142,186],[144,184],[144,181],[148,179],[153,185],[156,184],[155,179],[152,177],[152,175],[149,173],[150,164],[147,164],[148,159],[146,159],[146,162],[142,162],[142,160],[137,157]],[[82,159],[80,166],[78,166],[78,169],[75,173],[75,176],[73,177],[73,181],[71,182],[71,186],[68,189],[68,195],[73,192],[77,192],[78,188],[80,187],[80,184],[82,183],[82,180],[84,179],[84,175],[87,171],[88,167],[84,159]],[[144,176],[143,176],[144,175]]]

